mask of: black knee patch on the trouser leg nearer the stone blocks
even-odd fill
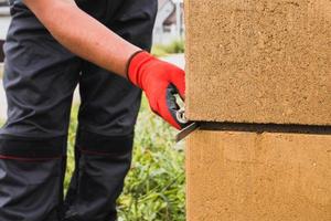
[[[79,130],[76,145],[82,154],[105,157],[131,155],[134,134],[124,136],[105,136]]]

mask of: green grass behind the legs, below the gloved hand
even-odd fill
[[[75,107],[68,139],[65,187],[74,169]],[[119,221],[184,221],[184,155],[174,144],[175,131],[142,101],[136,127],[134,161],[118,200]],[[175,148],[174,148],[175,147]]]

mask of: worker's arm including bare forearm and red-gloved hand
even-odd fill
[[[65,48],[142,88],[151,109],[177,128],[174,92],[184,97],[184,72],[125,41],[81,10],[74,0],[23,0]],[[140,53],[137,53],[140,52]]]

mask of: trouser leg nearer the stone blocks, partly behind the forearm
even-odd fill
[[[105,23],[134,44],[150,50],[157,1],[124,2],[115,19]],[[76,144],[79,164],[67,196],[67,220],[114,221],[116,200],[130,168],[141,92],[128,81],[88,63],[81,92]]]

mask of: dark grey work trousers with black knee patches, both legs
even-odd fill
[[[150,50],[157,0],[77,4],[124,39]],[[141,91],[64,49],[21,0],[11,2],[11,14],[4,44],[8,122],[0,130],[0,221],[116,220]],[[76,168],[64,200],[67,130],[77,84],[82,105]]]

